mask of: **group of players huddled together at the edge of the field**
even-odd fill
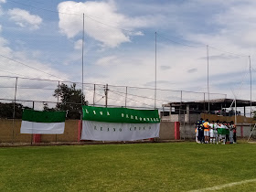
[[[202,118],[196,124],[196,142],[198,144],[236,144],[236,125],[231,121],[217,122]]]

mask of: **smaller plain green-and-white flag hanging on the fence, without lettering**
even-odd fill
[[[62,134],[66,112],[39,112],[24,110],[20,133]]]

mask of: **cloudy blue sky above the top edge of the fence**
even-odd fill
[[[209,45],[210,92],[250,99],[255,6],[253,0],[0,0],[0,75],[81,81],[84,13],[85,82],[154,87],[156,31],[158,88],[207,91]]]

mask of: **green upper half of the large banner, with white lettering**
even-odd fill
[[[160,123],[157,110],[82,106],[82,119],[106,123]]]

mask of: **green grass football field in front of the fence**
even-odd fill
[[[0,191],[189,191],[256,179],[256,144],[0,148]],[[256,181],[218,191],[256,191]]]

